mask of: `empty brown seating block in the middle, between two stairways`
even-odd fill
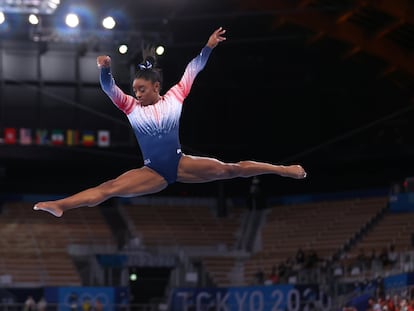
[[[145,246],[233,248],[242,209],[218,218],[207,206],[128,205],[124,210]]]

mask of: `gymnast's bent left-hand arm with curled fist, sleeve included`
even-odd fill
[[[116,84],[111,73],[111,58],[106,55],[98,56],[96,59],[98,68],[101,69],[100,83],[102,90],[111,98],[112,102],[125,114],[129,114],[137,105],[137,100],[126,95]]]

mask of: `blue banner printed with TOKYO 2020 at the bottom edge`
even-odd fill
[[[317,285],[178,288],[171,311],[331,311],[331,298]]]

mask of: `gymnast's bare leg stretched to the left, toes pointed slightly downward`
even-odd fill
[[[127,171],[115,179],[64,199],[39,202],[33,209],[43,210],[56,217],[60,217],[69,209],[82,206],[96,206],[115,196],[132,197],[155,193],[163,190],[167,185],[168,183],[163,177],[144,166]]]

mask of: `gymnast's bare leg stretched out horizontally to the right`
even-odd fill
[[[225,163],[214,158],[184,155],[178,166],[177,181],[201,183],[263,174],[276,174],[296,179],[306,177],[306,172],[300,165],[284,166],[256,161]]]

